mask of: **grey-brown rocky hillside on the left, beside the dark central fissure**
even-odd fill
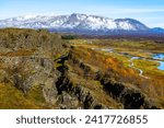
[[[37,108],[56,104],[60,72],[54,69],[52,56],[62,51],[60,37],[44,30],[0,30],[0,84],[17,89],[30,104],[37,102]]]

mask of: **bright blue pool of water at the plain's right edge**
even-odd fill
[[[157,69],[160,70],[164,70],[164,53],[163,54],[155,54],[153,56],[154,59],[159,59],[160,61],[160,66],[157,67]]]

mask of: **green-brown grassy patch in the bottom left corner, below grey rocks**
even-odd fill
[[[0,84],[0,109],[39,109],[47,104],[40,86],[34,86],[25,95],[10,84]]]

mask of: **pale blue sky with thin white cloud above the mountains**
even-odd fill
[[[130,18],[164,28],[164,0],[0,0],[0,20],[20,15],[84,13]]]

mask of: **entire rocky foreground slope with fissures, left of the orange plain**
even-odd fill
[[[139,89],[83,61],[59,35],[0,33],[0,108],[160,108]]]

